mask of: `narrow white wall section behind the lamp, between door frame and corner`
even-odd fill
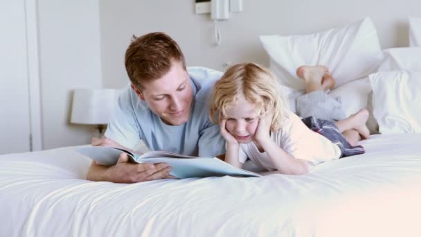
[[[101,87],[98,0],[38,1],[38,16],[43,148],[89,143],[69,118],[73,89]]]

